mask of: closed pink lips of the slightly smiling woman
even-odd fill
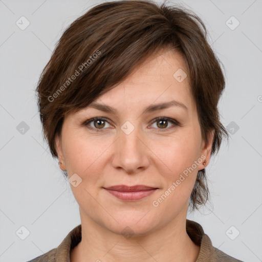
[[[154,193],[158,188],[145,185],[116,185],[104,188],[108,193],[111,193],[116,198],[126,201],[135,201],[147,197]]]

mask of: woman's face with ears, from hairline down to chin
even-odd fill
[[[128,226],[143,235],[186,219],[197,173],[204,159],[209,162],[213,133],[209,142],[202,140],[181,69],[188,75],[182,56],[164,50],[94,101],[113,112],[88,106],[65,117],[56,148],[60,168],[74,181],[82,223],[90,220],[117,234]],[[155,106],[162,103],[170,104]],[[118,198],[105,189],[116,185],[154,190],[118,192]]]

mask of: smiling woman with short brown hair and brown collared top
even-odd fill
[[[188,209],[228,134],[219,60],[195,14],[149,1],[97,5],[63,33],[39,79],[45,138],[81,225],[33,261],[240,261]]]

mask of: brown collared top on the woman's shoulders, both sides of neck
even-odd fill
[[[192,241],[200,246],[200,253],[195,262],[243,262],[213,247],[210,238],[197,222],[187,219],[186,232]],[[68,233],[57,248],[28,262],[70,262],[70,252],[81,241],[81,237],[80,224]]]

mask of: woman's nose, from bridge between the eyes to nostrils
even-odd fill
[[[145,138],[139,128],[133,127],[134,130],[130,133],[126,132],[128,128],[120,130],[119,137],[114,143],[112,164],[115,168],[124,169],[126,173],[131,174],[141,172],[149,166],[150,150],[143,141]]]

